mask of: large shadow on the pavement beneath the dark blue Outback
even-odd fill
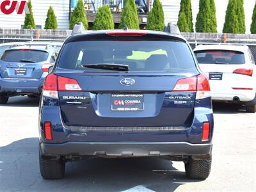
[[[0,147],[3,191],[174,191],[189,180],[172,161],[154,157],[68,162],[65,179],[44,180],[38,168],[38,138]]]

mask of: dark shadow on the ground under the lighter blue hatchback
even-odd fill
[[[38,107],[39,98],[29,98],[27,96],[10,97],[6,104],[0,106],[8,107]]]

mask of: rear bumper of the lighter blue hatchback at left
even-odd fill
[[[0,93],[19,95],[42,92],[44,78],[41,79],[0,79]]]

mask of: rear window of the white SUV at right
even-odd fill
[[[244,64],[244,53],[239,51],[209,50],[195,51],[198,63],[205,64]]]

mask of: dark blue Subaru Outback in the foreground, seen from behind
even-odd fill
[[[209,83],[186,40],[167,29],[93,31],[65,41],[40,101],[44,179],[61,179],[67,161],[92,156],[156,156],[183,161],[191,179],[209,176]]]

